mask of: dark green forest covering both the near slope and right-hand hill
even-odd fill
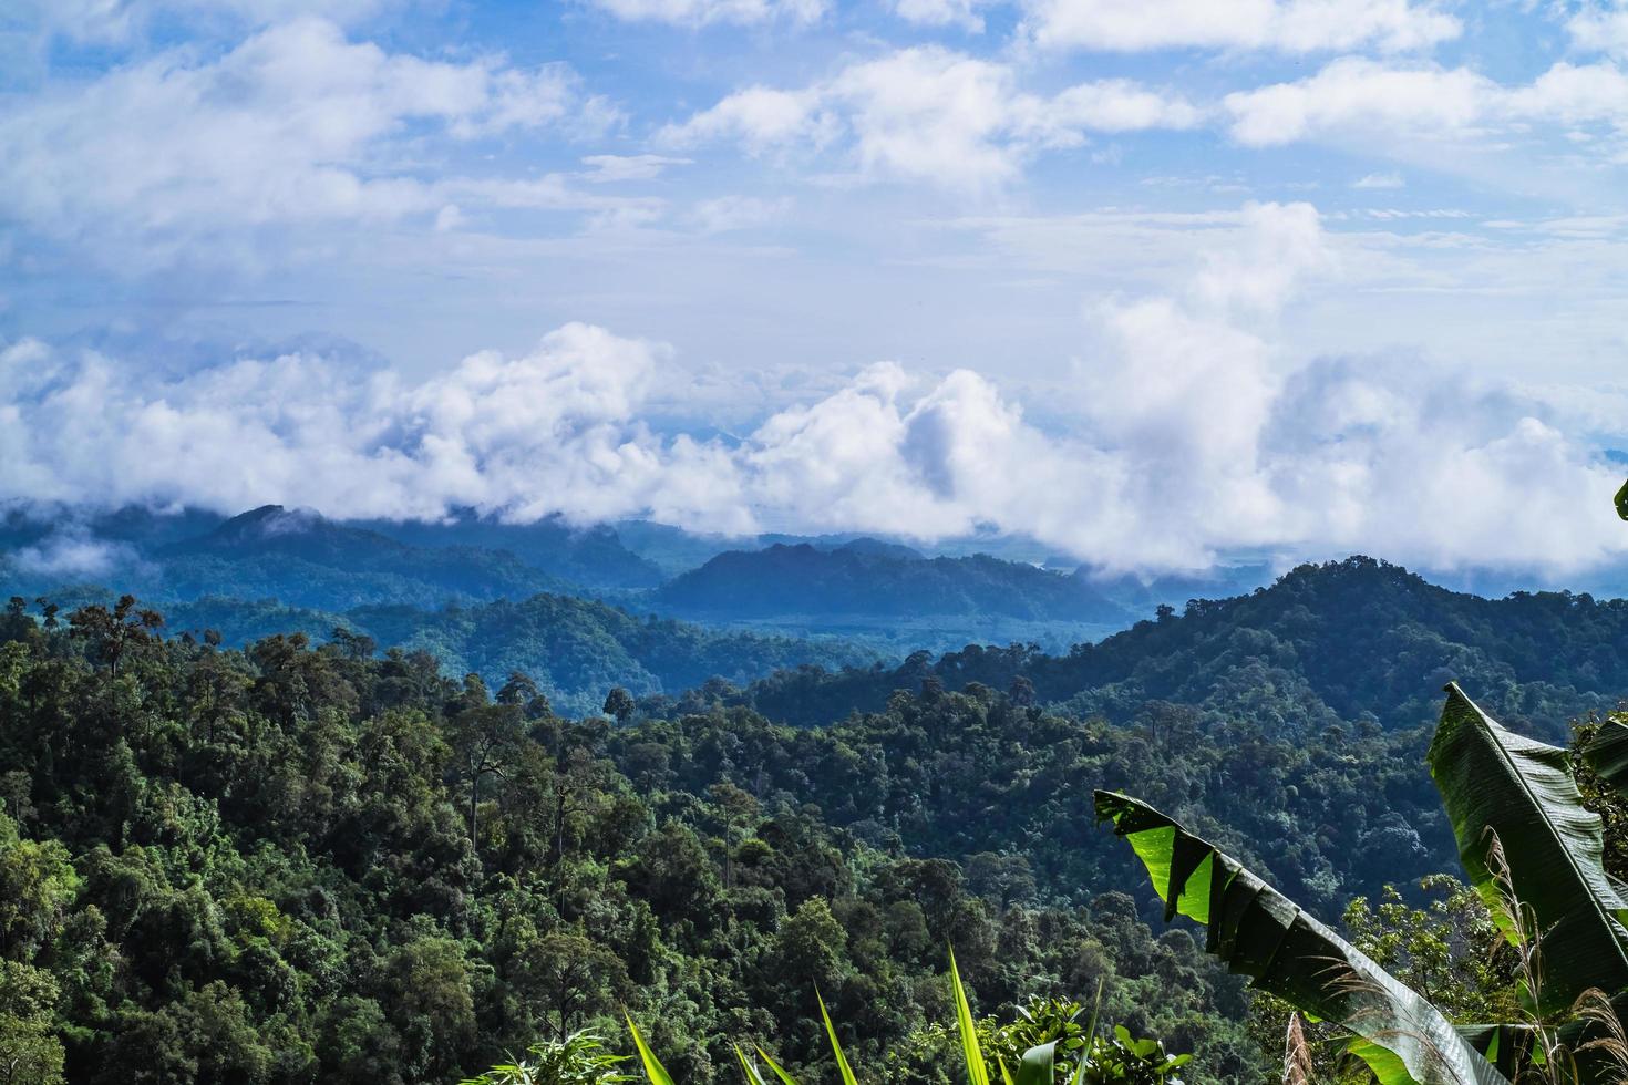
[[[1628,688],[1621,604],[1363,558],[1061,657],[755,683],[700,660],[687,693],[602,712],[503,672],[527,636],[570,654],[554,607],[446,612],[493,646],[459,678],[348,628],[239,649],[133,599],[15,599],[0,1051],[23,1069],[0,1080],[449,1083],[578,1028],[625,1049],[624,1010],[679,1080],[726,1080],[736,1043],[835,1080],[817,989],[855,1064],[949,1082],[951,945],[991,1022],[1101,984],[1104,1020],[1193,1054],[1188,1082],[1280,1080],[1284,1009],[1159,922],[1092,791],[1410,966],[1418,930],[1486,927],[1441,878],[1431,683],[1555,734]],[[422,636],[402,613],[370,628]],[[646,657],[697,659],[689,626],[627,621]]]

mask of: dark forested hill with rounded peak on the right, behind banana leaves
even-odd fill
[[[775,675],[739,695],[775,719],[825,722],[876,711],[933,678],[1035,696],[1084,716],[1131,719],[1149,701],[1315,735],[1337,721],[1415,727],[1447,680],[1501,717],[1548,735],[1628,695],[1628,600],[1569,592],[1481,599],[1371,558],[1306,564],[1276,584],[1171,608],[1061,656],[1034,646],[918,652],[897,669]]]

